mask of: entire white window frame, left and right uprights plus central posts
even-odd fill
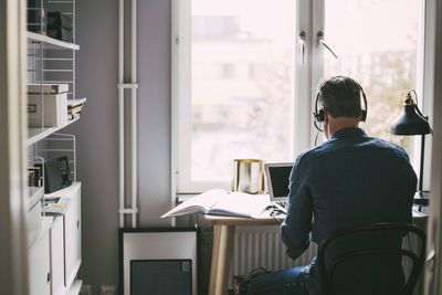
[[[434,0],[423,0],[421,49],[418,49],[417,91],[424,114],[432,112],[432,83],[423,83],[427,76],[434,72],[431,56],[434,40],[424,32],[432,25],[435,14],[430,8]],[[430,17],[430,18],[428,18]],[[294,93],[294,122],[291,122],[294,135],[293,157],[314,146],[316,129],[313,125],[316,87],[323,80],[323,49],[318,46],[317,32],[325,27],[325,0],[296,1],[296,36]],[[230,189],[227,181],[191,181],[191,0],[172,0],[171,27],[171,191],[172,200],[177,194],[200,193],[212,188]],[[431,29],[431,28],[430,28]],[[305,63],[302,63],[299,34],[305,32]],[[424,94],[424,95],[422,95]],[[303,97],[305,97],[303,99]],[[399,98],[399,97],[398,97]],[[430,118],[431,120],[431,118]],[[296,140],[295,140],[296,138]],[[431,162],[431,138],[427,136],[424,187],[429,187]],[[419,167],[420,143],[417,138],[413,160]],[[417,169],[418,170],[418,169]]]

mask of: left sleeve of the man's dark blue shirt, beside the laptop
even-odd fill
[[[287,255],[295,260],[308,249],[312,231],[312,198],[307,186],[308,171],[303,156],[296,159],[290,178],[287,214],[281,224],[281,239]]]

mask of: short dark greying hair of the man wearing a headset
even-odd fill
[[[361,114],[361,86],[346,76],[335,76],[324,81],[318,89],[319,102],[332,117],[357,118]]]

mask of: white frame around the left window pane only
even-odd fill
[[[172,143],[172,166],[171,166],[171,181],[172,181],[172,193],[186,194],[186,193],[199,193],[212,188],[230,188],[230,181],[191,181],[190,179],[190,140],[191,140],[191,122],[190,122],[190,78],[191,78],[191,32],[190,32],[190,1],[191,0],[172,0],[172,32],[171,32],[171,45],[172,45],[172,78],[171,78],[171,116],[172,116],[172,130],[171,130],[171,143]],[[296,4],[296,17],[298,20],[296,31],[307,31],[309,27],[308,13],[302,13],[303,11],[309,11],[309,1],[303,0],[297,1]],[[303,28],[299,30],[299,28]],[[294,42],[297,42],[294,40]],[[309,48],[307,45],[307,48]],[[295,85],[303,85],[296,87],[295,97],[311,97],[311,81],[308,80],[309,65],[299,65],[298,50],[296,46],[295,56]],[[308,53],[307,53],[308,55]],[[308,60],[308,56],[307,59]],[[311,146],[311,99],[295,99],[294,103],[294,118],[292,122],[292,128],[297,134],[291,138],[293,144],[292,154],[297,155],[302,150]],[[172,197],[173,198],[173,197]]]

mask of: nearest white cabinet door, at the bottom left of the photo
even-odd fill
[[[30,295],[50,295],[49,231],[29,251],[29,277]]]

